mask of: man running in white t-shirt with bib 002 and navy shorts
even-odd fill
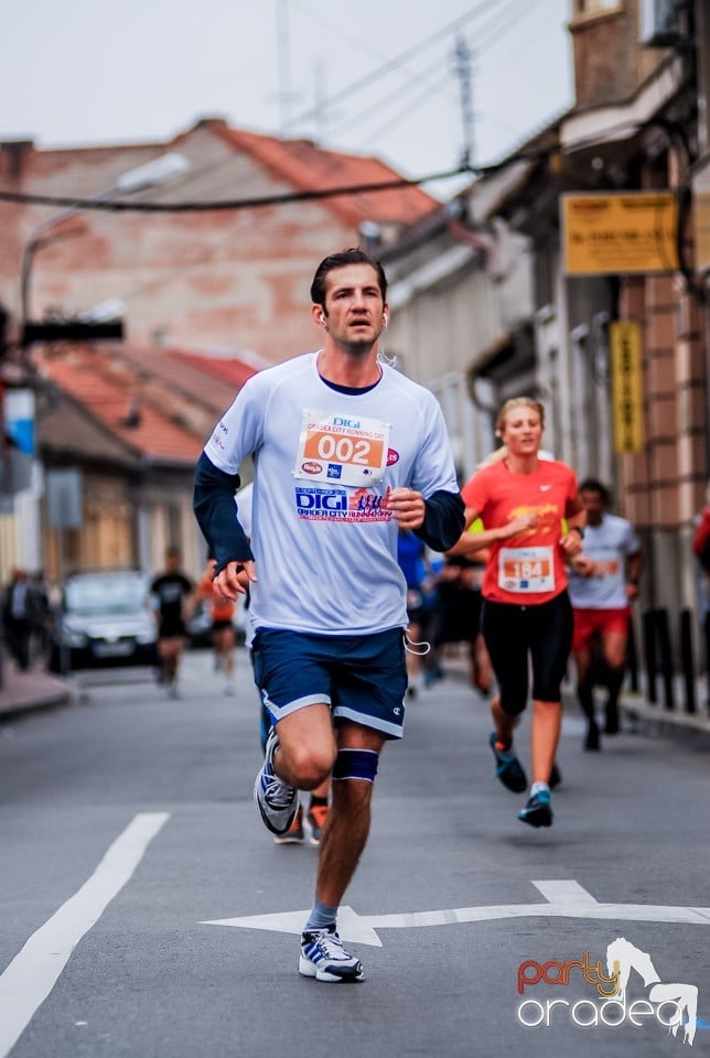
[[[386,739],[401,736],[406,584],[397,528],[444,551],[463,503],[431,392],[378,356],[387,325],[381,264],[361,249],[321,262],[311,285],[315,353],[250,378],[197,464],[195,514],[217,558],[215,589],[248,580],[256,681],[273,724],[255,801],[288,831],[298,790],[332,776],[313,910],[299,971],[362,981],[336,915],[365,848]],[[254,456],[251,540],[238,521],[238,468]]]

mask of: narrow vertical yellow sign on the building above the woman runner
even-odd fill
[[[641,325],[617,320],[611,325],[614,451],[644,451],[644,393]]]

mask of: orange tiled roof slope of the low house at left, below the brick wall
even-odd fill
[[[137,424],[130,425],[130,379],[121,384],[111,377],[110,370],[89,350],[73,350],[66,357],[47,360],[44,369],[60,389],[140,455],[174,463],[192,463],[200,456],[204,439],[149,404],[140,404]]]

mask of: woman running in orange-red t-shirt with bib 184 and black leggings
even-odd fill
[[[562,720],[560,687],[572,644],[566,561],[581,551],[585,515],[571,467],[539,457],[545,427],[539,401],[506,401],[496,427],[507,446],[504,457],[476,471],[462,489],[466,529],[476,518],[485,529],[464,531],[450,553],[471,558],[490,548],[482,630],[499,688],[491,705],[495,730],[490,743],[496,776],[514,792],[527,787],[513,732],[527,703],[531,661],[532,782],[518,819],[549,827],[550,777]]]

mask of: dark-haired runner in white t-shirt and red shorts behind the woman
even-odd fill
[[[577,693],[587,716],[585,749],[600,748],[594,713],[592,649],[601,643],[606,667],[604,732],[618,731],[618,694],[624,681],[626,641],[631,622],[630,603],[638,596],[643,565],[641,544],[630,521],[607,514],[607,488],[595,478],[580,485],[587,510],[584,550],[572,559],[569,594],[574,614],[572,656],[577,667]]]

